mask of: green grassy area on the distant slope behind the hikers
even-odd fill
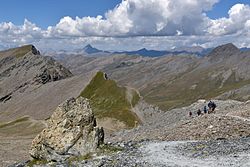
[[[142,91],[142,95],[145,96],[147,102],[158,105],[162,110],[169,110],[190,105],[198,99],[211,99],[227,91],[250,84],[250,80],[236,81],[235,73],[232,73],[222,84],[221,75],[212,79],[209,72],[211,71],[199,71],[192,73],[192,75],[184,73],[178,79],[173,80],[171,84],[164,83],[151,90],[146,90],[152,92],[150,94]],[[190,89],[192,85],[196,85],[195,89]]]

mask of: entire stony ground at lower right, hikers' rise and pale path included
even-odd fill
[[[206,101],[168,112],[142,105],[144,124],[107,135],[106,144],[99,151],[87,157],[35,166],[249,167],[250,103],[215,102],[215,114],[199,117],[189,117],[188,112],[203,107]],[[11,167],[27,166],[30,162]]]

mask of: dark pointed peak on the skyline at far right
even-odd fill
[[[228,43],[216,47],[208,56],[226,58],[238,52],[240,52],[240,49],[238,49],[234,44]]]

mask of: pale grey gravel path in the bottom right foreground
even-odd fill
[[[179,152],[176,146],[185,142],[153,142],[141,148],[145,154],[143,160],[155,167],[249,167],[250,155],[235,153],[233,155],[211,156],[208,158],[191,158]]]

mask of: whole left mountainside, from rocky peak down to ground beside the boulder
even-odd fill
[[[0,166],[28,159],[28,148],[55,108],[77,97],[92,74],[73,76],[33,45],[0,52]]]

